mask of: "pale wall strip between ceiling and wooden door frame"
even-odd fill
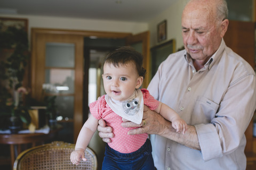
[[[26,18],[28,19],[29,35],[31,28],[53,28],[53,29],[71,29],[86,31],[114,31],[140,33],[148,30],[148,23],[144,22],[124,22],[111,20],[91,20],[77,18],[60,18],[51,16],[35,15],[5,15],[0,17]],[[29,36],[30,40],[30,36]]]

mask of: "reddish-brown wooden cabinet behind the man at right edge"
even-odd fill
[[[242,56],[253,69],[255,68],[254,25],[254,22],[229,21],[228,30],[224,37],[226,45]],[[253,120],[245,131],[245,136],[247,140],[245,154],[247,156],[247,164],[250,165],[256,162],[256,138],[253,137]]]

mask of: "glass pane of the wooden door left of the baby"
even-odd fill
[[[46,96],[57,96],[57,121],[63,130],[58,140],[73,142],[75,110],[75,50],[74,43],[45,43],[43,89]],[[65,139],[66,138],[66,139]]]

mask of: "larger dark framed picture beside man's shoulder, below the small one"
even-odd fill
[[[175,52],[175,40],[171,39],[165,43],[150,49],[151,55],[151,78],[154,77],[158,66],[172,53]]]

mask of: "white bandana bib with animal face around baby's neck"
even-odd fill
[[[105,100],[109,107],[117,115],[131,122],[140,124],[143,117],[143,95],[140,89],[136,89],[133,95],[126,101],[118,101],[105,95]]]

